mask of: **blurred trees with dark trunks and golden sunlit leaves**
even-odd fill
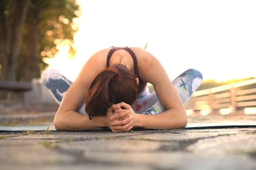
[[[42,58],[54,57],[63,42],[74,55],[75,0],[2,0],[0,11],[0,80],[39,77],[47,66]]]

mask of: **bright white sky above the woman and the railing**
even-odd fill
[[[256,0],[76,1],[77,55],[67,59],[63,49],[48,60],[72,80],[93,53],[147,41],[171,80],[189,68],[204,80],[256,77]]]

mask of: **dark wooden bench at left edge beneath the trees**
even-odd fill
[[[22,93],[32,90],[32,84],[31,82],[0,81],[0,90],[7,92],[6,100],[9,102],[11,101],[13,93]]]

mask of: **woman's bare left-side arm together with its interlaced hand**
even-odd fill
[[[113,115],[112,111],[120,106],[113,105],[108,109],[107,116],[97,116],[92,120],[87,115],[81,115],[76,112],[85,102],[85,94],[92,79],[105,67],[99,57],[92,56],[83,66],[76,81],[65,93],[61,104],[54,118],[56,130],[82,131],[100,127],[109,127],[112,131],[130,130],[131,119],[117,121],[123,115]]]

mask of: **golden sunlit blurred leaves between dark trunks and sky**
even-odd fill
[[[37,3],[37,7],[33,2]],[[69,57],[75,55],[73,37],[79,28],[74,23],[74,19],[79,17],[80,10],[76,0],[34,0],[31,2],[32,7],[40,10],[38,16],[38,28],[40,30],[38,55],[41,60],[38,67],[40,71],[43,71],[47,67],[44,57],[54,57],[64,45],[69,46]],[[26,29],[24,29],[24,35],[29,36]],[[25,47],[21,52],[21,55],[24,54],[26,54]]]

